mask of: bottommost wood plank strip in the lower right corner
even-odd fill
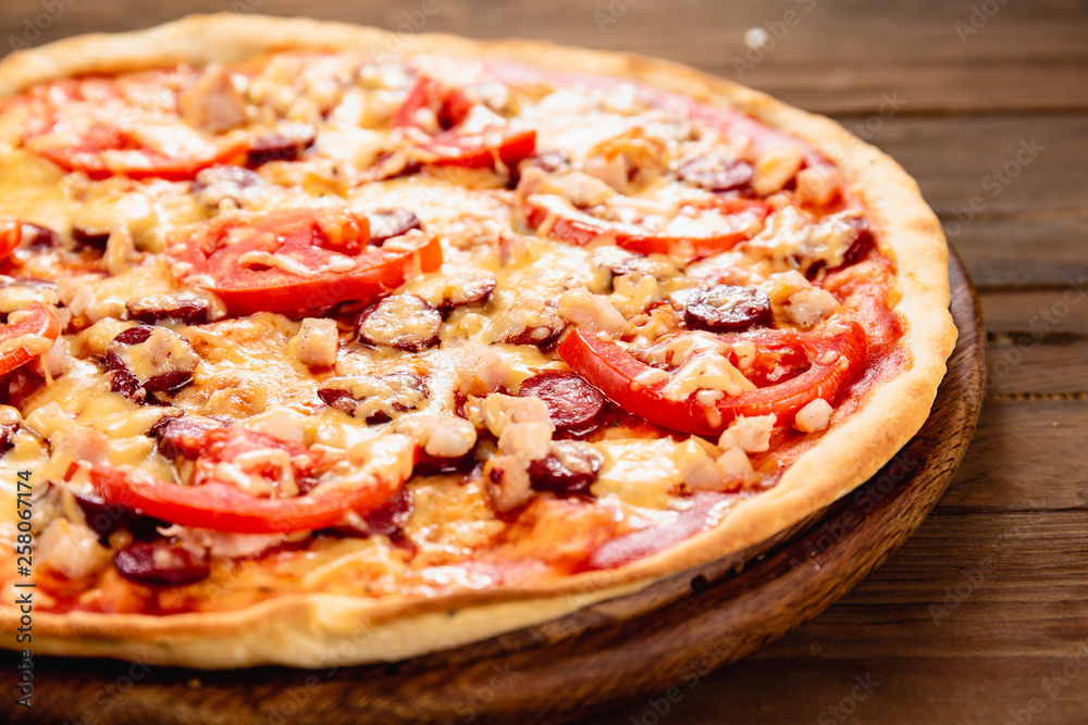
[[[677,690],[592,722],[1056,725],[1084,722],[1088,711],[1085,651],[1067,658],[759,659],[702,678],[697,666]]]

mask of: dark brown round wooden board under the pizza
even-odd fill
[[[111,724],[562,722],[619,707],[768,645],[879,566],[944,493],[978,420],[985,330],[959,259],[960,339],[929,420],[876,476],[794,530],[561,620],[390,665],[198,672],[38,658],[15,721]],[[0,691],[13,700],[15,658]],[[10,698],[10,699],[9,699]]]

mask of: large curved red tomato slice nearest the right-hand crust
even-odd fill
[[[858,372],[865,358],[865,330],[856,322],[833,336],[814,336],[780,332],[739,336],[752,340],[757,350],[771,346],[796,347],[806,353],[812,365],[795,377],[775,385],[727,396],[713,407],[701,405],[694,396],[682,400],[667,398],[668,384],[642,386],[640,375],[653,371],[611,339],[596,333],[573,329],[559,343],[558,352],[570,368],[597,387],[613,402],[629,413],[641,415],[665,428],[700,435],[718,435],[739,415],[778,416],[788,425],[794,414],[817,398],[831,401],[839,388]],[[643,377],[642,379],[647,379]]]

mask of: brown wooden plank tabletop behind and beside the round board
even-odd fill
[[[435,3],[2,0],[0,48],[246,8],[423,20],[681,61],[840,120],[918,179],[981,293],[990,384],[972,449],[918,533],[823,615],[595,722],[1088,722],[1088,3]]]

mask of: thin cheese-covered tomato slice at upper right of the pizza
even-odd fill
[[[601,220],[553,195],[530,196],[522,204],[526,223],[537,230],[549,224],[545,234],[555,239],[585,246],[610,238],[632,252],[668,254],[684,262],[718,254],[751,239],[753,227],[763,223],[770,208],[761,200],[726,197],[707,202],[701,211],[709,216],[702,222],[704,228],[698,234],[683,234],[670,227],[654,230]]]

